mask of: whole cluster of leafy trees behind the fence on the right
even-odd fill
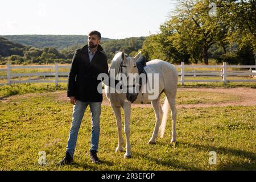
[[[216,14],[210,14],[215,6]],[[250,64],[254,61],[255,22],[255,1],[178,0],[160,33],[144,42],[143,51],[150,58],[204,64],[212,51],[210,55],[219,62]]]

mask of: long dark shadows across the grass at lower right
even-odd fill
[[[156,143],[156,145],[162,145],[163,142]],[[220,171],[231,171],[231,170],[255,170],[256,169],[256,154],[254,152],[248,152],[243,150],[237,150],[234,148],[228,148],[228,147],[215,147],[215,146],[205,146],[202,144],[194,144],[194,143],[188,143],[188,142],[176,142],[175,146],[174,144],[171,144],[167,147],[167,150],[169,150],[172,147],[188,147],[188,148],[195,148],[197,151],[206,151],[206,154],[208,154],[209,151],[216,151],[218,154],[224,154],[228,156],[238,156],[241,158],[247,158],[250,160],[250,163],[244,162],[241,160],[230,160],[222,162],[220,159],[217,159],[217,165],[216,168],[213,170],[220,170]],[[195,166],[191,166],[191,164],[187,164],[184,162],[181,162],[176,159],[168,159],[168,158],[162,158],[159,159],[158,156],[148,156],[146,154],[139,154],[138,152],[134,152],[133,157],[143,158],[147,159],[151,162],[154,162],[160,166],[170,167],[177,170],[192,170],[192,171],[200,171],[200,170],[211,170],[209,167],[205,168],[198,168]]]

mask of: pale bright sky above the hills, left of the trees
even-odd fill
[[[2,0],[0,35],[88,35],[110,39],[159,32],[174,0]]]

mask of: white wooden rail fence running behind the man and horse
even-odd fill
[[[55,86],[60,82],[68,82],[68,72],[59,72],[60,68],[67,68],[68,71],[71,65],[31,65],[31,66],[11,66],[10,64],[6,65],[6,68],[0,69],[1,72],[6,72],[6,76],[0,75],[0,80],[6,80],[6,82],[0,83],[0,85],[13,84],[13,83],[55,83]],[[15,69],[54,69],[54,72],[34,72],[34,73],[11,73]],[[184,62],[181,65],[176,65],[176,68],[181,68],[179,80],[182,85],[185,82],[223,82],[227,84],[228,82],[256,82],[256,79],[253,78],[256,76],[256,72],[252,68],[256,68],[255,65],[227,65],[225,62],[223,65],[185,65]],[[196,71],[196,68],[207,68],[207,71]],[[210,71],[209,69],[215,69]],[[220,69],[217,71],[216,68]],[[230,68],[236,68],[239,70],[228,70]],[[193,71],[186,71],[186,69],[193,69]],[[243,69],[242,71],[240,69]],[[249,79],[228,79],[228,77],[249,77]],[[22,78],[28,78],[22,80]],[[32,78],[31,77],[35,77]],[[65,77],[65,80],[61,80],[61,77]],[[202,77],[218,77],[218,79],[187,79],[187,78],[202,78]],[[18,80],[17,80],[18,78]],[[49,78],[49,79],[46,79]]]

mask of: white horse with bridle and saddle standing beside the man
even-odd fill
[[[128,76],[129,73],[138,73],[138,69],[136,68],[136,61],[141,56],[141,52],[138,53],[135,57],[126,57],[125,53],[118,52],[115,54],[111,69],[115,69],[115,76],[118,75],[120,69],[122,69],[122,73]],[[168,118],[168,110],[171,107],[171,117],[172,117],[172,142],[176,142],[176,106],[175,106],[175,98],[177,92],[177,71],[174,65],[163,61],[163,60],[151,60],[146,64],[147,68],[146,72],[154,72],[159,74],[159,90],[155,90],[159,93],[159,95],[151,100],[151,104],[154,107],[155,111],[155,128],[150,138],[148,144],[155,144],[155,139],[158,137],[158,131],[160,128],[161,138],[164,135],[164,129],[166,127],[166,121]],[[149,84],[150,81],[147,82]],[[131,114],[131,103],[140,103],[147,102],[148,94],[145,93],[142,96],[142,93],[110,93],[109,86],[105,85],[105,93],[106,97],[110,101],[110,105],[115,114],[115,119],[117,122],[117,130],[118,130],[118,146],[116,148],[116,152],[123,151],[123,137],[122,137],[122,121],[121,121],[121,107],[125,113],[125,127],[124,131],[126,134],[126,152],[124,158],[131,157],[131,146],[130,146],[130,114]],[[164,100],[164,105],[161,107],[160,105],[160,96],[162,93],[166,94],[166,98]]]

